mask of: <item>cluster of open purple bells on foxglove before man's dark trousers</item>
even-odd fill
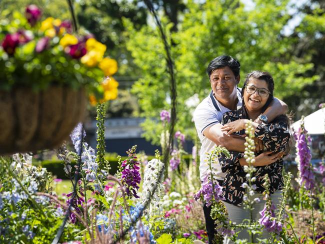
[[[214,189],[213,189],[214,185]],[[213,195],[214,191],[214,195]],[[210,206],[213,201],[213,196],[214,200],[223,200],[224,198],[221,196],[222,193],[222,186],[219,185],[218,181],[210,179],[208,175],[203,176],[203,182],[202,182],[202,187],[195,193],[194,198],[197,200],[200,198],[200,196],[203,196],[203,199],[205,201],[206,206]]]

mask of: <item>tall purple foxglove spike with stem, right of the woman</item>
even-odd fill
[[[312,166],[310,163],[311,152],[308,144],[311,142],[311,137],[309,136],[307,130],[304,128],[304,117],[301,118],[301,123],[298,131],[294,133],[294,138],[296,140],[296,162],[298,165],[298,182],[300,186],[307,190],[310,207],[311,207],[311,224],[312,224],[312,237],[315,241],[315,226],[314,226],[314,216],[313,216],[313,190],[315,186],[314,174],[312,171]]]

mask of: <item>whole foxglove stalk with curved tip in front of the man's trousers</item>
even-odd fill
[[[216,243],[222,243],[224,235],[231,236],[234,233],[228,226],[227,210],[221,201],[224,199],[221,196],[222,187],[215,177],[215,163],[212,163],[218,160],[218,155],[221,152],[226,157],[230,156],[229,152],[224,147],[220,146],[215,146],[210,153],[208,153],[206,160],[209,165],[209,170],[203,176],[202,187],[194,195],[196,200],[201,198],[207,207],[211,205],[211,217],[215,220],[218,231],[215,236]]]

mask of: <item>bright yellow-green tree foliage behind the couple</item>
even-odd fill
[[[295,39],[281,34],[290,19],[287,3],[288,0],[256,1],[255,8],[246,9],[238,0],[188,1],[178,32],[172,33],[170,24],[162,18],[166,36],[173,43],[176,128],[186,135],[195,134],[191,121],[193,107],[187,106],[186,100],[195,93],[200,100],[208,94],[210,85],[205,68],[220,54],[227,53],[239,59],[241,77],[253,69],[269,71],[274,75],[274,94],[279,98],[297,92],[317,78],[316,75],[308,78],[302,75],[313,65],[307,58],[292,57],[290,46]],[[142,77],[134,83],[132,92],[138,96],[143,110],[141,114],[147,117],[142,124],[144,135],[155,141],[161,130],[150,118],[157,117],[161,109],[170,108],[169,76],[162,41],[153,26],[137,30],[126,19],[124,25],[129,38],[126,47],[131,51],[134,63],[142,69]]]

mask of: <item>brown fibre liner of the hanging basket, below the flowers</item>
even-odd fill
[[[85,104],[84,89],[0,91],[0,154],[58,146],[82,120]]]

